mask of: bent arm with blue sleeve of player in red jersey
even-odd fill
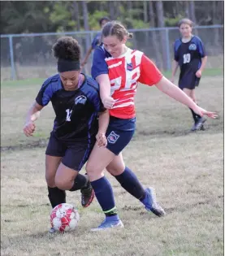
[[[92,76],[100,86],[100,97],[103,105],[109,109],[113,106],[115,100],[110,97],[109,70],[105,58],[104,50],[101,47],[97,47],[93,54]]]

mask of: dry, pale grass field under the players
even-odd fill
[[[155,88],[139,87],[136,135],[123,156],[143,184],[156,189],[167,211],[164,218],[148,214],[107,175],[125,228],[89,232],[103,219],[97,201],[82,209],[80,192],[68,192],[67,202],[78,206],[80,223],[63,235],[47,232],[44,160],[54,118],[51,106],[37,120],[34,137],[22,132],[40,85],[2,84],[2,256],[223,255],[223,76],[205,76],[197,89],[199,105],[219,114],[207,120],[204,132],[189,132],[187,107]]]

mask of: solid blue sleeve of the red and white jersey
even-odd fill
[[[95,79],[102,74],[108,74],[108,66],[105,61],[106,53],[102,47],[97,46],[93,53],[92,77]]]

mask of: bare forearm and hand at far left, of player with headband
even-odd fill
[[[39,105],[36,101],[32,103],[32,106],[28,110],[24,125],[24,134],[29,137],[32,136],[32,133],[35,131],[34,121],[37,120],[40,116],[40,111],[44,106]]]

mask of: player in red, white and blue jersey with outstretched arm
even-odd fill
[[[162,93],[192,108],[197,115],[208,115],[211,118],[216,116],[214,112],[197,106],[181,89],[162,76],[143,52],[128,48],[126,41],[131,37],[132,34],[128,33],[123,24],[110,21],[102,28],[102,45],[97,46],[93,54],[92,76],[100,85],[105,107],[110,109],[110,124],[106,131],[107,145],[105,148],[95,145],[86,165],[97,201],[106,215],[104,221],[97,228],[93,228],[93,231],[123,228],[112,187],[104,176],[105,168],[146,210],[159,217],[165,215],[156,200],[154,189],[145,189],[123,162],[122,151],[132,140],[136,128],[134,97],[139,82],[144,84],[140,86],[155,85]]]

